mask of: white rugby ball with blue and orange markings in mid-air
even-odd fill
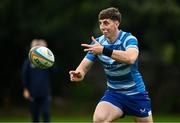
[[[52,51],[44,46],[32,47],[29,51],[29,60],[35,67],[41,69],[50,68],[55,62]]]

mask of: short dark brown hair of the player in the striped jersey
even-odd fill
[[[102,10],[99,13],[99,20],[103,20],[103,19],[111,19],[114,21],[119,21],[119,23],[120,23],[121,22],[121,13],[119,12],[119,10],[117,8],[110,7],[110,8]]]

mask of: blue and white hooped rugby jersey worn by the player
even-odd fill
[[[98,37],[96,40],[102,46],[114,50],[125,51],[128,48],[138,49],[136,37],[122,30],[120,30],[118,38],[113,43],[109,42],[104,35]],[[113,89],[127,95],[146,91],[142,76],[138,71],[138,60],[136,60],[134,64],[125,64],[117,62],[103,54],[94,56],[92,53],[87,53],[85,57],[91,61],[95,61],[98,58],[102,62],[107,76],[108,89]]]

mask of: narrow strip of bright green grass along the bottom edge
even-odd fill
[[[52,122],[91,122],[90,115],[53,115]],[[29,116],[0,116],[0,122],[31,122]],[[127,116],[123,119],[118,119],[116,122],[133,122],[133,117]],[[180,115],[154,115],[154,122],[180,122]]]

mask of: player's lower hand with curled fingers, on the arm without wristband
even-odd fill
[[[82,81],[83,75],[79,71],[69,71],[71,81]]]

